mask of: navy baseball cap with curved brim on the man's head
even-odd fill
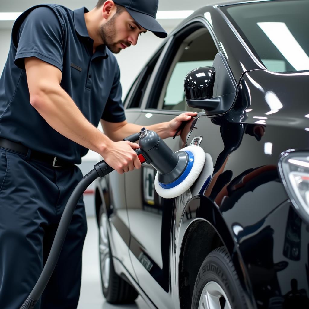
[[[153,32],[159,38],[167,37],[167,33],[155,19],[159,0],[115,0],[124,6],[131,17],[143,28]]]

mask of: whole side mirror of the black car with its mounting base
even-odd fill
[[[214,58],[213,67],[204,66],[187,74],[184,93],[188,106],[204,109],[208,116],[223,114],[232,107],[237,84],[221,52]]]

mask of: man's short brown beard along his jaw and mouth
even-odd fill
[[[121,48],[117,47],[119,43],[122,43],[125,46],[130,46],[130,44],[122,40],[118,42],[114,42],[114,38],[116,37],[115,17],[116,15],[114,15],[107,23],[105,23],[104,25],[101,25],[99,29],[99,35],[101,36],[107,48],[112,53],[117,54],[121,51]]]

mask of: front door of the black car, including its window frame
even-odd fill
[[[170,121],[189,108],[184,98],[183,82],[186,74],[201,66],[211,66],[218,48],[205,24],[187,23],[171,36],[149,78],[135,123],[142,126]],[[177,151],[186,146],[194,127],[189,121],[180,136],[164,142]],[[139,170],[125,175],[125,197],[130,226],[129,254],[139,284],[159,308],[173,306],[171,297],[170,244],[171,222],[175,199],[164,199],[154,189],[155,169],[143,164]]]

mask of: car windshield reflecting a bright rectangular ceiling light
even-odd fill
[[[309,0],[246,3],[222,11],[267,70],[309,70]]]

